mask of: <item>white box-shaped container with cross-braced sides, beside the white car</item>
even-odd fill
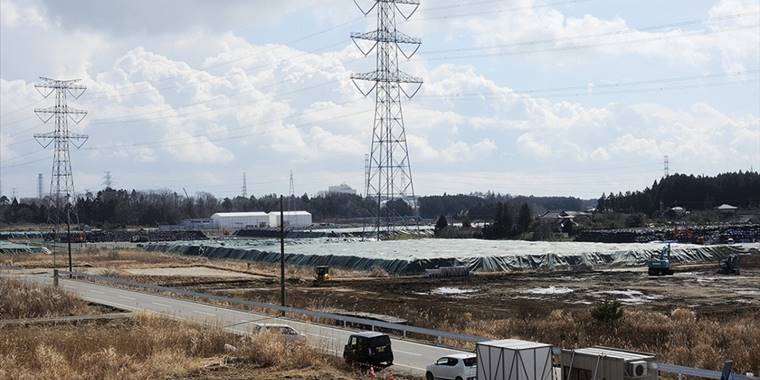
[[[552,346],[518,339],[480,342],[478,380],[552,380]]]

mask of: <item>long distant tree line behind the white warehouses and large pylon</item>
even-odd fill
[[[393,200],[377,209],[376,199],[354,194],[326,194],[309,197],[285,197],[286,210],[309,211],[315,222],[372,218],[380,212],[391,217],[434,220],[439,215],[453,219],[490,221],[500,205],[526,204],[535,212],[542,210],[578,210],[584,201],[572,197],[523,197],[495,193],[424,196],[418,198],[419,209],[403,200]],[[50,202],[40,199],[0,197],[0,223],[47,223]],[[210,193],[186,196],[173,191],[137,191],[106,188],[87,193],[75,201],[77,220],[91,226],[156,226],[177,224],[183,219],[208,218],[215,212],[276,211],[280,198],[276,194],[248,198],[217,198]],[[416,214],[418,212],[418,214]]]

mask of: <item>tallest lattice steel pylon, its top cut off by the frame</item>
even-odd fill
[[[372,145],[367,165],[366,196],[377,200],[377,235],[382,221],[391,227],[391,208],[383,205],[398,199],[414,199],[414,182],[406,142],[404,115],[401,109],[402,94],[414,97],[422,87],[422,79],[399,70],[399,53],[411,59],[422,45],[418,38],[396,29],[396,16],[408,20],[420,6],[419,0],[376,0],[365,10],[354,1],[366,16],[377,12],[377,29],[366,33],[351,33],[359,51],[365,56],[375,51],[376,68],[368,73],[352,74],[351,80],[364,96],[375,91],[375,121],[372,128]],[[406,10],[406,11],[405,11]],[[373,83],[363,89],[357,81]]]

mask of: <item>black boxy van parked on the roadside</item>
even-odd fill
[[[351,334],[343,349],[343,359],[352,365],[389,367],[393,365],[391,338],[371,331]]]

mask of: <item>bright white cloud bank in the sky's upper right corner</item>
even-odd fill
[[[715,60],[713,52],[717,50],[726,70],[757,64],[757,29],[747,28],[756,24],[760,10],[760,3],[754,0],[720,0],[709,10],[704,25],[674,25],[661,30],[637,29],[621,17],[567,16],[556,7],[543,6],[540,0],[518,3],[516,12],[452,18],[448,24],[454,30],[471,34],[476,45],[488,48],[457,54],[508,56],[550,51],[552,54],[534,59],[547,65],[586,65],[599,55],[636,55],[699,66]]]

